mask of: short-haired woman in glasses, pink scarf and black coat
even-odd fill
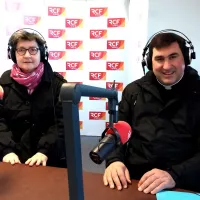
[[[0,78],[0,155],[11,164],[65,167],[59,93],[67,81],[52,71],[44,38],[27,30],[9,39],[14,64]]]

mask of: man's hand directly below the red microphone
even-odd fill
[[[103,176],[104,185],[109,185],[114,188],[115,185],[118,190],[127,188],[127,184],[131,183],[129,171],[122,162],[114,162],[110,164]]]

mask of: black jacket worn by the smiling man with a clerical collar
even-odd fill
[[[124,89],[118,120],[128,122],[132,136],[107,159],[122,161],[132,178],[153,169],[168,171],[177,187],[200,192],[200,80],[187,67],[171,90],[152,71]]]

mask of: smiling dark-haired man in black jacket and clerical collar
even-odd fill
[[[119,120],[131,125],[132,137],[107,159],[104,184],[121,190],[138,179],[144,193],[200,192],[200,81],[189,66],[194,51],[190,55],[186,40],[172,32],[156,34],[148,48],[149,72],[126,86],[119,104]]]

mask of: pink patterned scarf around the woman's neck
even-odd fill
[[[17,64],[13,64],[10,76],[20,85],[27,87],[28,93],[32,94],[40,83],[43,73],[44,64],[42,62],[40,62],[38,67],[30,73],[22,72]]]

